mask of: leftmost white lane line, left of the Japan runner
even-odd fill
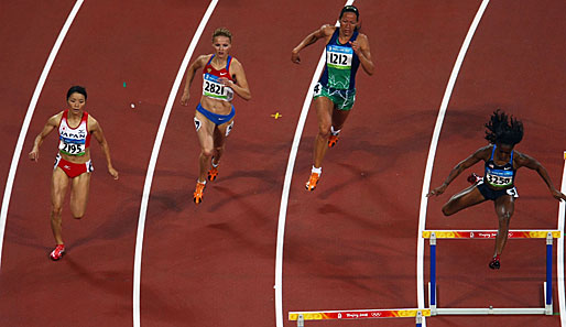
[[[22,129],[20,130],[20,135],[18,137],[18,143],[15,144],[15,150],[12,156],[12,163],[10,164],[10,172],[8,173],[8,179],[6,182],[4,196],[2,198],[2,209],[0,210],[0,265],[2,263],[2,246],[4,243],[4,230],[6,230],[6,220],[8,218],[8,207],[10,206],[10,197],[12,196],[12,187],[13,181],[15,178],[15,171],[18,170],[18,162],[20,161],[20,156],[22,154],[23,142],[25,141],[25,135],[28,134],[28,129],[30,128],[30,123],[32,121],[33,112],[35,111],[35,106],[37,106],[37,100],[40,99],[41,91],[43,90],[43,86],[45,85],[45,80],[47,79],[47,75],[50,75],[51,67],[53,66],[53,62],[55,62],[55,57],[61,48],[61,44],[63,44],[63,40],[67,35],[68,30],[70,29],[70,24],[75,20],[80,6],[84,0],[77,0],[75,2],[75,7],[70,10],[70,13],[61,29],[59,35],[51,50],[50,56],[47,57],[47,62],[43,67],[43,72],[41,73],[40,80],[35,86],[35,90],[33,91],[32,100],[30,101],[30,106],[28,107],[28,112],[25,113],[25,118],[23,119]]]

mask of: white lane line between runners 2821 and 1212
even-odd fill
[[[350,6],[353,3],[353,0],[346,1],[345,6]],[[338,22],[336,22],[338,25]],[[293,178],[293,170],[295,167],[296,154],[298,151],[298,143],[301,142],[301,135],[303,134],[303,129],[305,127],[306,116],[308,113],[308,108],[311,107],[311,101],[313,99],[313,88],[315,87],[320,74],[323,73],[324,63],[326,58],[326,48],[323,51],[320,55],[320,59],[318,61],[318,65],[316,66],[315,74],[313,75],[313,79],[311,80],[311,85],[308,86],[308,91],[306,92],[305,101],[303,102],[303,109],[301,109],[301,116],[298,118],[298,122],[295,130],[295,135],[293,138],[293,144],[291,146],[291,152],[289,154],[287,168],[285,172],[285,181],[283,182],[283,193],[281,194],[281,205],[279,207],[279,224],[277,224],[277,246],[275,250],[275,325],[276,327],[283,327],[283,241],[285,237],[285,219],[287,215],[287,204],[289,204],[289,192],[291,188],[291,179]]]

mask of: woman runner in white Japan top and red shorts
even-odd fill
[[[118,179],[118,172],[110,160],[110,150],[98,121],[85,111],[87,91],[84,87],[73,86],[67,92],[67,109],[47,120],[47,123],[35,138],[33,149],[29,156],[37,162],[40,146],[43,140],[54,130],[58,129],[59,152],[55,159],[55,166],[51,182],[51,229],[55,237],[55,249],[50,258],[59,260],[65,253],[62,237],[63,201],[70,183],[70,214],[80,219],[85,215],[90,185],[90,173],[94,171],[90,163],[90,137],[100,144],[106,156],[108,173]]]

